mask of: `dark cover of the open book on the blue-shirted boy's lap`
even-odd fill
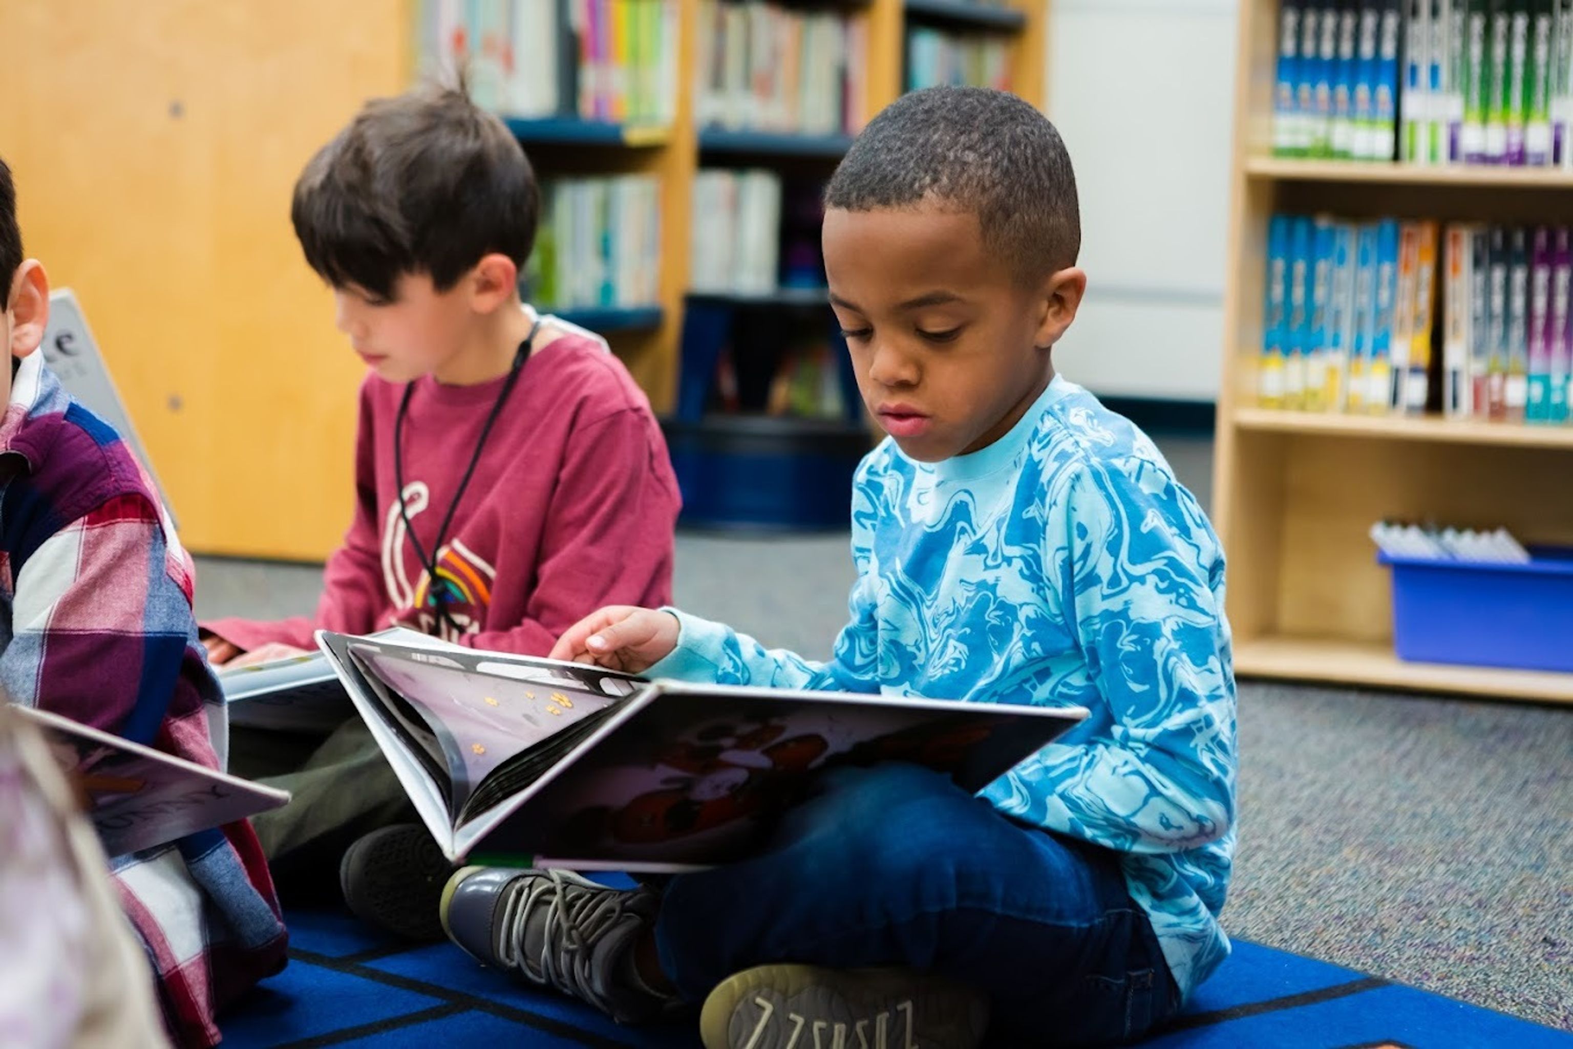
[[[813,778],[908,761],[975,793],[1087,716],[1082,708],[658,683],[461,851],[678,870],[752,854]],[[566,863],[565,865],[573,865]]]

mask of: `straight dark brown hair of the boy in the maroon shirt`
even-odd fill
[[[507,124],[462,88],[436,85],[368,102],[305,165],[291,206],[311,269],[378,297],[403,274],[447,291],[492,252],[522,271],[540,212]]]

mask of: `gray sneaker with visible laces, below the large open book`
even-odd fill
[[[672,1000],[629,975],[659,896],[557,870],[466,867],[442,890],[442,928],[477,961],[588,1002],[620,1024],[664,1016]]]

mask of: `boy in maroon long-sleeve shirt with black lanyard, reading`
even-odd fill
[[[670,601],[680,499],[661,429],[604,341],[519,300],[538,212],[519,143],[461,91],[374,101],[307,165],[296,234],[370,368],[355,517],[316,615],[206,623],[216,664],[393,624],[544,656],[602,604]],[[238,733],[234,760],[288,771],[294,801],[256,821],[283,890],[343,857],[357,914],[440,934],[445,865],[423,829],[389,826],[411,810],[359,719],[304,764],[264,733]]]

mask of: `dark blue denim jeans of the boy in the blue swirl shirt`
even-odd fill
[[[656,947],[692,1000],[782,961],[938,972],[989,996],[997,1044],[1117,1043],[1180,1007],[1114,852],[911,764],[831,772],[764,854],[673,878]]]

